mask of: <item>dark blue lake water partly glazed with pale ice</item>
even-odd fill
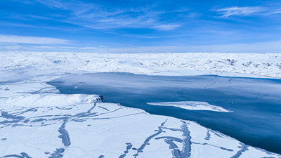
[[[281,80],[213,75],[192,77],[96,73],[48,82],[60,93],[99,94],[104,102],[137,107],[150,114],[197,121],[247,145],[281,154]],[[233,112],[183,110],[146,103],[204,101]]]

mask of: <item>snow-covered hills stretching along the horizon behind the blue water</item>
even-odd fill
[[[7,71],[41,73],[132,72],[152,75],[218,74],[281,78],[280,53],[44,53],[2,52],[0,81]]]

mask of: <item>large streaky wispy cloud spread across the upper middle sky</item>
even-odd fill
[[[81,1],[37,0],[49,8],[70,11],[61,21],[94,29],[110,28],[152,28],[171,30],[180,26],[172,21],[162,20],[164,13],[182,13],[189,11],[181,8],[175,11],[155,11],[155,6],[136,8],[110,8]]]

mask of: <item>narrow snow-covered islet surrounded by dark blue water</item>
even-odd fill
[[[159,106],[173,106],[180,107],[187,110],[209,110],[215,112],[230,112],[229,110],[223,109],[223,107],[218,107],[214,105],[209,105],[207,102],[166,102],[166,103],[147,103],[149,105],[159,105]]]

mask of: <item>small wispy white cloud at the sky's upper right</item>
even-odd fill
[[[254,7],[230,7],[230,8],[221,8],[216,10],[218,14],[222,14],[223,17],[229,17],[231,15],[240,15],[240,16],[247,16],[252,15],[254,13],[260,13],[262,11],[266,11],[266,8],[261,8],[259,6]]]

